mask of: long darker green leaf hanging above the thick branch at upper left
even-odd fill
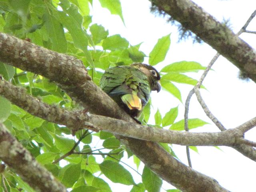
[[[44,16],[45,26],[48,34],[50,34],[49,38],[52,42],[52,50],[59,53],[65,53],[68,48],[68,43],[62,24],[49,12],[44,14]]]

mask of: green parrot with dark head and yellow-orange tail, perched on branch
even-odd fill
[[[160,74],[152,66],[134,63],[108,68],[100,79],[100,88],[132,118],[138,118],[150,99],[150,92],[161,90]]]

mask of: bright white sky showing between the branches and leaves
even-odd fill
[[[230,24],[234,32],[244,25],[246,20],[256,9],[255,0],[194,0],[202,6],[207,12],[216,17],[219,21],[230,19]],[[156,17],[150,13],[150,2],[148,0],[121,0],[123,16],[126,26],[118,16],[113,16],[106,9],[103,9],[94,1],[93,6],[93,23],[102,24],[109,30],[110,35],[121,34],[130,44],[141,45],[146,55],[150,53],[158,38],[171,34],[171,46],[164,62],[158,64],[156,68],[160,70],[164,65],[181,60],[196,61],[207,66],[214,54],[216,53],[210,46],[205,43],[193,44],[192,40],[178,43],[178,33],[175,26],[166,23],[161,17]],[[248,30],[256,30],[256,18],[251,22]],[[256,47],[255,34],[242,34],[240,36],[252,47]],[[144,61],[145,63],[147,60]],[[204,86],[208,89],[202,90],[202,96],[212,111],[212,113],[224,124],[226,128],[234,128],[243,122],[250,120],[255,114],[256,107],[256,84],[254,82],[245,82],[238,79],[238,69],[228,62],[225,58],[220,57],[213,66],[204,81]],[[192,77],[199,78],[200,74],[192,74]],[[182,92],[182,100],[185,102],[188,92],[192,86],[176,84]],[[179,105],[181,120],[184,114],[184,105],[181,104],[172,95],[161,91],[156,94],[152,92],[152,103],[155,108],[160,109],[162,116],[170,108]],[[201,118],[207,122],[210,120],[205,116],[195,96],[190,102],[189,118]],[[203,126],[193,131],[218,131],[218,128],[210,122],[210,125]],[[246,134],[246,138],[255,141],[256,128]],[[187,164],[186,150],[184,146],[173,146],[174,151],[180,160]],[[195,170],[215,178],[220,185],[232,192],[252,192],[255,191],[255,172],[256,164],[252,160],[244,157],[236,150],[228,147],[221,147],[223,151],[214,147],[198,147],[199,154],[191,151],[192,166]],[[136,168],[131,160],[125,160],[130,166]],[[133,174],[135,182],[141,182],[140,176],[128,168]],[[142,173],[142,166],[139,172]],[[131,186],[121,184],[111,184],[113,192],[129,192]],[[170,184],[164,183],[161,191],[173,188]]]

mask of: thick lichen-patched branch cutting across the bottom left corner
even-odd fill
[[[36,191],[66,192],[66,188],[46,168],[38,164],[26,148],[0,123],[0,158]]]

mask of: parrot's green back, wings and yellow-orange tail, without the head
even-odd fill
[[[141,111],[150,98],[147,76],[132,66],[117,66],[106,70],[100,79],[100,88],[118,104],[129,110]]]

